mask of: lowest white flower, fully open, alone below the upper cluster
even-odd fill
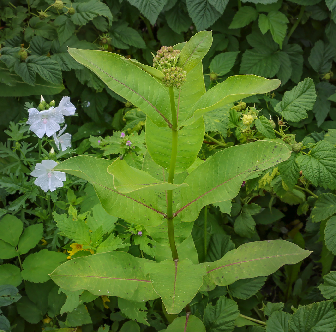
[[[64,172],[52,170],[56,165],[57,162],[51,159],[42,160],[42,163],[35,165],[35,170],[31,173],[32,176],[37,177],[34,183],[45,192],[49,189],[54,191],[56,188],[63,187],[62,181],[66,180]]]

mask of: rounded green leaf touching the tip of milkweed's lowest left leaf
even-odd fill
[[[50,279],[49,273],[65,260],[67,256],[64,253],[47,249],[30,254],[22,263],[22,278],[31,282],[45,282]]]

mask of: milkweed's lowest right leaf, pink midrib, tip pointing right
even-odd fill
[[[300,262],[310,252],[285,240],[255,241],[229,251],[216,262],[202,264],[213,283],[226,286],[240,279],[268,276],[284,264]]]

